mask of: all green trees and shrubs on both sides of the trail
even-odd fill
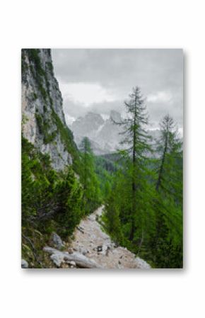
[[[54,138],[59,134],[64,152],[73,161],[57,171],[49,154],[22,135],[23,259],[30,267],[50,267],[42,248],[49,244],[51,234],[57,232],[68,241],[81,219],[103,204],[102,226],[116,245],[127,247],[153,268],[182,268],[182,140],[174,120],[165,115],[160,138],[152,140],[147,133],[145,100],[136,86],[124,102],[127,118],[113,119],[113,125],[123,128],[120,150],[96,156],[88,137],[77,149],[71,131],[54,110],[39,52],[29,51],[32,65],[41,71],[36,81],[42,100],[50,105],[50,113],[48,108],[45,113],[54,120],[55,130],[46,142],[57,144]],[[23,75],[27,69],[23,59]],[[49,69],[52,74],[50,65]],[[35,69],[32,72],[36,76]],[[35,113],[39,133],[48,122],[42,117],[45,113]],[[23,116],[22,127],[27,120]]]

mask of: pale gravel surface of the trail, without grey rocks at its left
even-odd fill
[[[93,259],[102,268],[151,268],[146,261],[122,246],[115,246],[110,237],[102,231],[98,217],[102,215],[103,206],[93,214],[81,220],[74,232],[71,249],[89,259]]]

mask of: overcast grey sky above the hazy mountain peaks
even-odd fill
[[[58,49],[52,59],[67,122],[88,111],[123,114],[123,101],[140,86],[150,127],[158,127],[166,113],[182,127],[182,50]]]

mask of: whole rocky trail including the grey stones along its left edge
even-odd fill
[[[60,237],[55,234],[53,240],[57,249],[45,246],[50,259],[58,268],[142,268],[151,266],[131,251],[116,246],[109,235],[102,231],[98,222],[102,215],[103,205],[91,215],[81,220],[74,232],[74,240],[65,247]]]

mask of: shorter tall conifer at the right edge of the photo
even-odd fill
[[[160,267],[182,267],[182,142],[174,120],[160,122],[156,210],[156,251]]]

